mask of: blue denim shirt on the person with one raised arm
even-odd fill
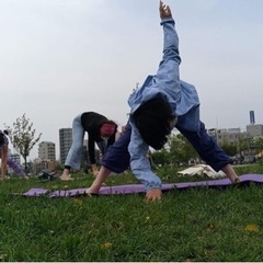
[[[146,155],[149,146],[142,140],[139,130],[133,123],[133,113],[157,95],[168,100],[178,115],[176,126],[197,130],[199,124],[199,100],[195,87],[180,80],[179,37],[172,18],[161,21],[164,34],[163,57],[156,76],[148,76],[141,88],[134,91],[128,99],[130,106],[132,136],[128,146],[130,168],[135,176],[144,183],[146,190],[161,187],[161,180],[150,168]]]

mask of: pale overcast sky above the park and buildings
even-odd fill
[[[263,124],[263,1],[168,0],[181,78],[193,83],[207,128]],[[56,144],[59,128],[95,111],[127,121],[136,83],[162,53],[159,0],[0,0],[1,126],[26,114]],[[31,158],[37,156],[37,146]]]

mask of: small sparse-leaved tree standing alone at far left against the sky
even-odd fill
[[[13,128],[7,126],[5,124],[4,126],[9,130],[9,137],[13,144],[13,147],[23,157],[25,170],[27,170],[26,158],[30,156],[30,152],[35,144],[39,141],[42,134],[35,138],[33,123],[30,122],[30,118],[25,117],[25,113],[22,117],[16,118],[16,121],[13,123]]]

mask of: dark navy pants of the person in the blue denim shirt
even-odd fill
[[[188,132],[178,126],[176,128],[191,142],[201,158],[214,170],[219,171],[232,162],[232,159],[206,133],[205,125],[202,122],[198,132]],[[125,132],[123,132],[119,138],[107,149],[102,159],[102,165],[115,173],[121,173],[128,169],[130,134],[132,127],[127,124]]]

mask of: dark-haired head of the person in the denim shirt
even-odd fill
[[[161,96],[141,104],[133,114],[133,118],[142,139],[156,150],[165,145],[167,136],[171,134],[175,124],[175,115],[170,104]]]

